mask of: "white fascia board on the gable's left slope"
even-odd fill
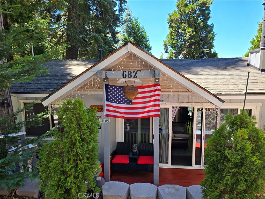
[[[122,49],[118,50],[116,53],[112,54],[105,60],[102,60],[102,62],[97,64],[95,67],[91,68],[91,70],[83,73],[81,76],[77,77],[75,80],[73,80],[72,82],[61,88],[60,90],[57,90],[50,97],[48,97],[42,102],[43,106],[52,104],[56,99],[62,97],[65,93],[70,92],[77,85],[87,82],[91,78],[91,76],[93,76],[98,71],[103,70],[109,64],[115,63],[118,59],[120,59],[122,55],[126,54],[127,52],[128,52],[127,45],[123,46]]]

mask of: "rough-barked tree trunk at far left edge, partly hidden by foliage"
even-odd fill
[[[0,31],[2,32],[4,29],[4,24],[3,24],[3,15],[1,13],[0,16]],[[3,58],[3,60],[1,60],[1,64],[7,62],[6,58]],[[14,114],[14,110],[13,110],[13,105],[12,105],[12,100],[11,100],[11,93],[10,93],[10,86],[8,85],[8,83],[5,82],[1,82],[1,91],[0,91],[0,97],[1,97],[1,106],[0,106],[0,119],[1,119],[1,129],[5,129],[10,127],[11,125],[15,124],[15,121],[13,118],[11,118],[10,116],[12,116]],[[8,103],[10,103],[10,106],[7,104],[2,104],[4,99],[7,99]],[[3,107],[2,107],[3,106]],[[5,126],[3,126],[2,124],[2,118],[8,118],[8,122],[7,124],[5,124]],[[0,134],[1,131],[0,131]]]

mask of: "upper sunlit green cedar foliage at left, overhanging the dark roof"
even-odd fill
[[[51,30],[51,24],[48,24],[47,20],[42,19],[34,19],[27,23],[17,23],[20,21],[20,16],[16,14],[20,12],[15,12],[14,8],[19,7],[20,10],[23,10],[19,3],[24,1],[8,1],[8,3],[11,2],[13,4],[17,2],[18,4],[12,6],[1,4],[1,9],[3,9],[1,10],[1,15],[5,14],[8,22],[8,26],[1,31],[0,35],[1,90],[3,88],[9,88],[9,85],[13,83],[30,81],[36,75],[45,75],[48,71],[41,67],[40,63],[47,59],[57,58],[62,50],[58,47],[47,49],[48,46],[46,45],[43,49],[46,49],[47,52],[34,51],[37,54],[33,57],[31,55],[31,46],[38,46],[43,40],[47,40],[48,32]],[[15,22],[12,20],[13,18],[16,18]],[[65,48],[65,46],[63,47]]]

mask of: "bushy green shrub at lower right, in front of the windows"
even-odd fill
[[[259,198],[265,184],[265,133],[245,111],[226,116],[226,124],[207,140],[203,198]]]

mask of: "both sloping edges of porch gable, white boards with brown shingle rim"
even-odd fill
[[[116,64],[120,60],[120,58],[127,53],[133,53],[136,56],[144,59],[146,62],[148,62],[152,66],[155,66],[156,69],[161,70],[164,73],[166,73],[167,76],[169,76],[171,79],[178,81],[180,84],[182,84],[183,86],[185,86],[192,92],[197,93],[198,95],[200,95],[202,98],[205,98],[209,102],[217,106],[221,106],[224,103],[222,99],[215,96],[214,94],[209,92],[207,89],[196,84],[194,81],[188,79],[187,77],[181,75],[180,73],[175,71],[173,68],[170,68],[164,62],[160,61],[153,55],[147,53],[143,49],[134,45],[130,41],[122,45],[119,49],[109,54],[104,59],[94,64],[92,67],[86,69],[80,75],[76,76],[74,79],[72,79],[65,85],[61,86],[55,92],[51,93],[50,95],[42,99],[41,102],[43,103],[44,106],[53,103],[56,99],[60,98],[61,96],[63,96],[65,93],[69,92],[76,86],[82,83],[88,82],[89,79],[97,73],[97,71],[99,70],[104,71],[104,70],[109,69],[111,64]]]

